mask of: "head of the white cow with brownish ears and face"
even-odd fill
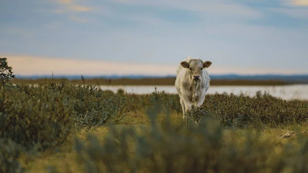
[[[211,65],[211,62],[202,62],[200,59],[192,59],[189,63],[186,61],[181,62],[181,65],[189,70],[190,79],[197,82],[201,80],[203,74],[202,70],[208,68]]]

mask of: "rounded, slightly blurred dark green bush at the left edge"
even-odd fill
[[[70,131],[69,109],[46,91],[36,97],[13,88],[0,89],[0,138],[11,139],[27,150],[63,143]]]

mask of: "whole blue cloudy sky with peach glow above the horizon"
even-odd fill
[[[0,0],[15,74],[308,73],[308,0]]]

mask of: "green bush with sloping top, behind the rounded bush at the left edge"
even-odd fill
[[[129,111],[124,95],[112,91],[102,91],[95,86],[73,85],[66,80],[61,82],[46,81],[40,85],[22,85],[18,89],[29,97],[38,99],[34,91],[46,91],[49,95],[60,98],[69,113],[76,129],[96,128],[108,121],[120,120]]]

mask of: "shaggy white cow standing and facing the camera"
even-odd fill
[[[188,56],[177,69],[175,86],[180,95],[183,120],[186,118],[186,123],[186,112],[191,109],[191,105],[201,106],[204,101],[210,81],[206,68],[210,65],[209,61],[202,62]]]

